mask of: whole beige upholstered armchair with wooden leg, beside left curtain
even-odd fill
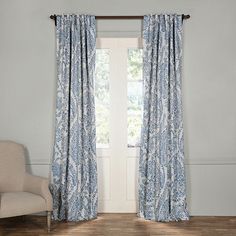
[[[52,196],[46,178],[25,171],[22,145],[0,141],[0,218],[47,212],[50,231]]]

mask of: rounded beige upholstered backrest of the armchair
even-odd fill
[[[0,192],[22,191],[25,176],[23,145],[0,141]]]

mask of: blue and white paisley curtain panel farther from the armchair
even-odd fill
[[[139,216],[154,221],[189,218],[181,102],[182,33],[181,15],[144,17]]]

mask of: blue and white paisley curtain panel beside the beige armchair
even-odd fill
[[[58,15],[57,100],[52,162],[53,218],[97,216],[95,17]]]

